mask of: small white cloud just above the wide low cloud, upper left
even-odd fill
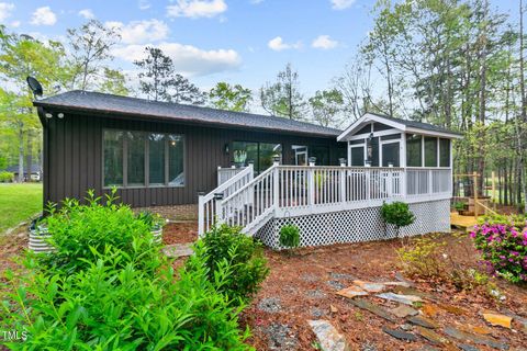
[[[168,25],[159,20],[123,22],[106,22],[106,27],[114,27],[121,34],[124,44],[143,44],[159,42],[168,36]]]

